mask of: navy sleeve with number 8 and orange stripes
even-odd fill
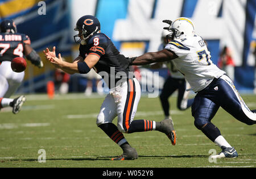
[[[96,35],[93,36],[92,39],[89,40],[88,45],[90,45],[88,55],[96,55],[99,58],[102,55],[105,55],[105,49],[108,44],[108,39],[104,35]]]

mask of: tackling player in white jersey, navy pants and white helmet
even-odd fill
[[[195,126],[221,147],[222,151],[211,157],[237,157],[236,149],[224,139],[211,120],[221,106],[237,120],[252,125],[256,123],[256,110],[251,111],[246,106],[232,80],[212,63],[204,39],[196,34],[191,19],[181,17],[174,22],[170,21],[169,24],[170,26],[164,29],[170,31],[167,38],[172,40],[166,47],[162,51],[134,57],[130,59],[130,64],[146,65],[172,60],[192,90],[197,93],[192,104]]]

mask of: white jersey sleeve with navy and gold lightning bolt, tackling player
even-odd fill
[[[190,52],[190,48],[177,40],[170,41],[164,49],[174,52],[177,56],[185,56]]]

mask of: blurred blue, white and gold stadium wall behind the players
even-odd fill
[[[199,35],[207,40],[213,63],[227,45],[233,54],[234,84],[240,91],[253,93],[256,47],[255,0],[1,0],[0,21],[14,19],[18,32],[30,36],[32,47],[40,54],[44,68],[28,63],[26,77],[16,93],[46,93],[55,70],[43,56],[46,47],[57,47],[67,61],[78,54],[73,28],[82,15],[96,15],[101,32],[108,35],[125,56],[157,51],[164,27],[163,19],[191,18]],[[45,5],[45,6],[44,6]],[[43,9],[45,7],[45,9]],[[152,70],[140,67],[140,70]],[[167,69],[160,69],[160,88]],[[161,80],[162,79],[162,80]],[[86,78],[74,74],[69,93],[86,88]]]

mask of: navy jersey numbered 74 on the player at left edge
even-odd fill
[[[0,33],[0,63],[23,57],[24,45],[30,45],[30,38],[25,34]]]

